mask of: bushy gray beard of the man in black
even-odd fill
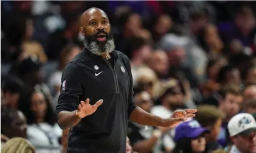
[[[114,39],[106,40],[106,43],[103,45],[104,46],[100,46],[96,41],[92,41],[91,43],[89,43],[86,39],[84,39],[84,47],[95,55],[111,53],[115,49]],[[104,51],[101,51],[101,49]]]

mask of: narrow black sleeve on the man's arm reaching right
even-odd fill
[[[134,104],[134,99],[133,99],[133,75],[131,74],[131,64],[130,64],[130,60],[128,59],[127,57],[127,60],[126,60],[128,63],[128,69],[129,69],[129,79],[130,79],[130,82],[129,82],[129,93],[128,93],[128,118],[130,117],[131,115],[131,112],[133,112],[133,110],[137,107],[135,104]]]

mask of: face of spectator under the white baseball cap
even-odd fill
[[[241,152],[254,153],[256,146],[255,132],[251,133],[249,136],[236,136],[232,137],[232,141]]]

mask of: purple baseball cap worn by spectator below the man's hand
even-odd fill
[[[179,124],[175,129],[174,140],[181,138],[197,138],[203,133],[209,133],[210,130],[203,128],[196,120],[186,121]]]

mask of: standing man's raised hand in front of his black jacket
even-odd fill
[[[87,98],[85,102],[81,101],[81,104],[78,105],[76,116],[78,116],[79,118],[84,118],[85,116],[91,115],[103,103],[103,100],[100,99],[94,105],[90,105],[89,102],[90,102],[89,98]]]

